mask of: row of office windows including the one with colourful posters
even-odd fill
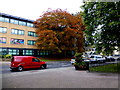
[[[5,37],[0,37],[0,43],[6,43],[6,40],[7,39]],[[24,44],[24,40],[11,38],[10,43],[11,44]],[[34,41],[34,40],[27,41],[27,45],[35,45],[35,43],[36,43],[36,41]]]

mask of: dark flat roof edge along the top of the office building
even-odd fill
[[[12,19],[17,19],[17,20],[21,20],[21,21],[26,21],[26,22],[31,22],[31,23],[34,22],[34,20],[25,19],[25,18],[22,18],[22,17],[13,16],[13,15],[5,14],[5,13],[0,13],[0,16],[7,17],[7,18],[12,18]]]

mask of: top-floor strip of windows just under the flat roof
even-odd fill
[[[11,18],[6,18],[6,17],[0,17],[0,21],[18,24],[18,25],[22,25],[22,26],[34,27],[34,24],[32,24],[32,23],[20,21],[20,20],[15,20],[15,19],[11,19]]]

